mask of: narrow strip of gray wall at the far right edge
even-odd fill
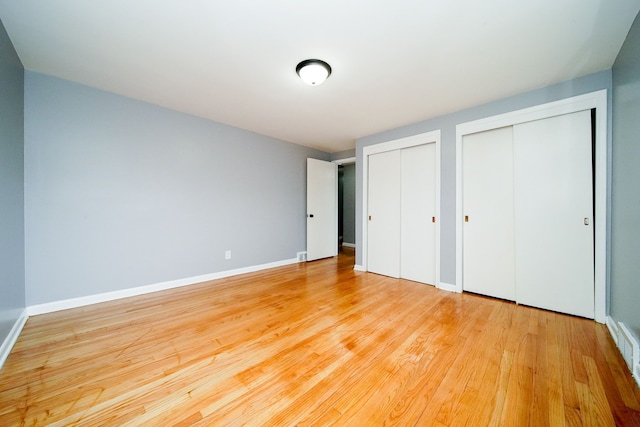
[[[640,337],[640,15],[613,66],[610,314]]]

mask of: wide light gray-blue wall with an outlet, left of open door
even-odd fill
[[[305,250],[306,158],[328,153],[55,77],[25,78],[27,305]]]

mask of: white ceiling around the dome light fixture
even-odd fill
[[[0,0],[25,68],[329,152],[608,69],[640,0]],[[327,61],[307,86],[295,67]]]

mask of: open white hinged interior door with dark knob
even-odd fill
[[[338,165],[307,159],[307,261],[338,254]]]

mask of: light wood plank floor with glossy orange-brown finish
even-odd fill
[[[0,425],[640,425],[603,325],[353,262],[32,317]]]

